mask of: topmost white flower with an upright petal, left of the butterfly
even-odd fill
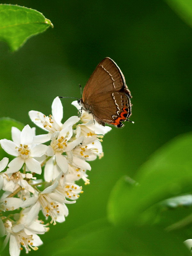
[[[63,106],[59,97],[56,97],[53,100],[52,115],[45,116],[39,111],[31,110],[29,111],[29,116],[37,126],[49,132],[48,134],[37,135],[35,137],[36,143],[37,141],[41,141],[41,143],[43,143],[50,140],[53,132],[61,131],[80,120],[78,116],[71,116],[64,124],[61,123],[63,117]]]

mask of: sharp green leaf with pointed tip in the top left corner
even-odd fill
[[[0,4],[0,40],[16,51],[29,37],[44,32],[50,20],[36,10],[12,4]]]

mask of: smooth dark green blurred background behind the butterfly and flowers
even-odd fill
[[[105,217],[116,181],[124,174],[134,178],[154,150],[191,130],[191,28],[158,0],[9,3],[42,12],[54,28],[32,37],[14,53],[0,42],[1,116],[34,126],[28,111],[48,115],[56,96],[80,97],[78,84],[84,87],[104,57],[121,68],[133,96],[130,119],[135,124],[114,127],[104,137],[104,157],[90,163],[91,184],[83,187],[75,205],[68,205],[66,221],[41,236],[46,245]],[[70,99],[62,102],[63,121],[77,115]],[[41,246],[30,255],[43,252]]]

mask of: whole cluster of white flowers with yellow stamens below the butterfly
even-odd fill
[[[77,101],[72,104],[81,108]],[[53,100],[52,115],[32,110],[29,116],[48,133],[36,135],[29,125],[22,131],[12,127],[12,140],[0,140],[4,151],[14,156],[0,161],[0,236],[5,236],[3,246],[9,242],[11,256],[19,256],[23,248],[37,250],[43,243],[38,235],[49,230],[48,221],[53,225],[65,221],[66,204],[75,203],[83,193],[76,181],[89,184],[87,161],[103,156],[102,138],[111,130],[84,110],[80,117],[62,123],[59,97]],[[48,141],[48,146],[43,144]],[[38,220],[40,211],[44,221]]]

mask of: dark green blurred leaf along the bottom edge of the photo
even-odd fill
[[[176,236],[154,227],[117,228],[96,220],[46,246],[47,256],[190,255]]]

